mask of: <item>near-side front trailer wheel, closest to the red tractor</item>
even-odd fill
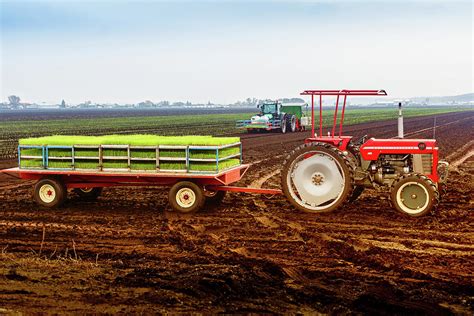
[[[201,209],[205,202],[202,187],[189,181],[181,181],[173,185],[168,199],[171,207],[180,213],[194,213]]]

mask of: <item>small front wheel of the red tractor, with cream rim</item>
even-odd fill
[[[392,186],[390,201],[397,211],[418,217],[437,207],[439,193],[436,185],[428,177],[407,174]]]

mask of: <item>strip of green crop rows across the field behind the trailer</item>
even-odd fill
[[[465,111],[462,107],[405,108],[405,117],[441,114]],[[255,111],[256,112],[256,111]],[[210,135],[228,135],[236,133],[235,122],[249,119],[253,113],[205,114],[118,118],[80,118],[55,120],[18,120],[0,123],[0,140],[18,140],[19,138],[42,135],[104,135],[133,134],[135,130],[163,135],[186,135],[196,132]],[[309,112],[309,111],[308,111]],[[325,126],[332,124],[333,110],[323,110]],[[309,113],[308,113],[309,114]],[[319,113],[316,119],[319,120]],[[348,108],[345,112],[346,124],[358,124],[369,121],[393,120],[397,118],[394,108]],[[79,128],[78,128],[79,127]]]

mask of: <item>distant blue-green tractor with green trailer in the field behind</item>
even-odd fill
[[[311,126],[311,120],[306,115],[308,105],[282,104],[280,101],[266,101],[257,106],[260,113],[254,115],[250,120],[237,121],[237,128],[247,130],[248,133],[262,131],[298,132],[304,131]]]

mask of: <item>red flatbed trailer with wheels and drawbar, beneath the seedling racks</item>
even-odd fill
[[[79,170],[30,170],[10,168],[1,173],[25,180],[35,180],[35,201],[45,207],[58,207],[67,199],[67,190],[73,189],[83,198],[97,198],[102,188],[116,186],[169,186],[171,207],[182,213],[201,209],[207,203],[219,203],[227,191],[258,194],[281,194],[281,190],[235,187],[247,172],[249,164],[215,174],[173,172],[99,172]]]

